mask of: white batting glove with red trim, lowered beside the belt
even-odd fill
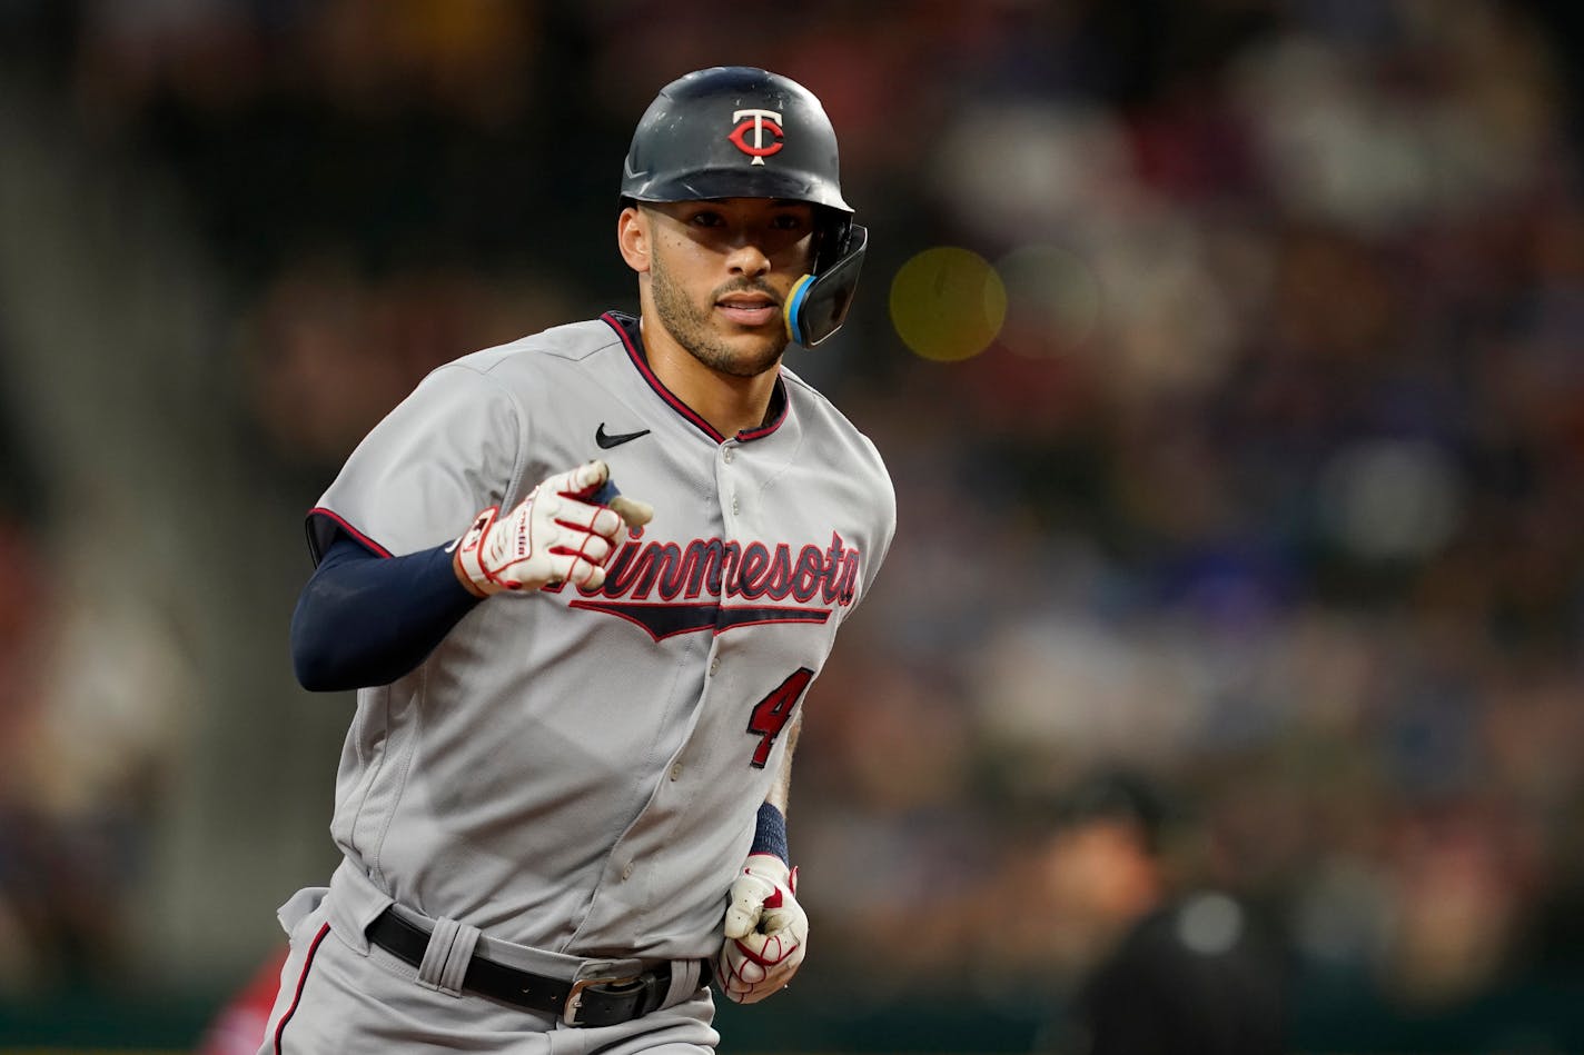
[[[797,903],[797,868],[775,854],[752,854],[732,882],[725,906],[725,944],[716,981],[727,1000],[757,1004],[779,990],[803,963],[808,914]]]

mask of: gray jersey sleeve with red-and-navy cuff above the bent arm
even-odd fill
[[[451,363],[429,374],[358,444],[309,516],[318,559],[336,529],[391,556],[451,542],[520,488],[521,404],[494,377]]]

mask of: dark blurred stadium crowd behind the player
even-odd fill
[[[1584,1049],[1573,8],[0,0],[0,1044],[177,1047],[274,954],[352,713],[304,512],[432,366],[634,307],[632,125],[748,63],[841,136],[873,249],[787,363],[900,531],[729,1045],[1045,1044],[1117,930],[1060,803],[1126,770],[1297,1050]],[[938,247],[1006,312],[927,358]]]

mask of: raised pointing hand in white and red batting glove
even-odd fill
[[[624,494],[599,504],[594,496],[608,482],[610,466],[589,461],[550,477],[505,516],[497,505],[482,510],[451,554],[458,578],[480,597],[556,583],[600,586],[627,529],[654,516]]]

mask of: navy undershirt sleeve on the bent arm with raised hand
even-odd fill
[[[336,535],[291,615],[291,667],[314,692],[390,684],[478,600],[456,581],[445,547],[385,558]]]

